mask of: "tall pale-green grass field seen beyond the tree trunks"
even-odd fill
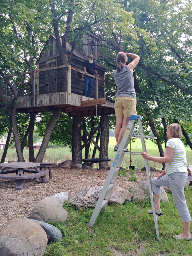
[[[152,156],[160,156],[159,155],[159,150],[158,147],[155,146],[155,144],[152,142],[152,140],[148,139],[146,140],[146,148],[147,148],[147,153]],[[111,159],[110,162],[108,162],[109,165],[112,164],[114,157],[115,157],[115,152],[113,152],[114,145],[116,145],[115,137],[110,137],[109,138],[109,151],[108,151],[108,157]],[[93,151],[94,145],[92,144],[91,146],[91,151],[89,158],[92,156],[92,151]],[[163,148],[164,149],[164,148]],[[131,142],[131,147],[130,143],[128,145],[128,150],[132,152],[142,152],[142,145],[141,145],[141,139],[137,138],[135,142]],[[35,152],[35,157],[38,153],[38,149],[34,150]],[[187,153],[187,165],[192,164],[192,150],[189,147],[186,147],[186,153]],[[2,157],[3,150],[0,150],[0,158]],[[24,149],[23,151],[23,156],[26,162],[29,161],[29,151]],[[82,159],[84,158],[84,149],[82,150]],[[97,150],[95,158],[99,158],[99,151]],[[70,151],[69,147],[58,147],[58,148],[47,148],[43,162],[45,163],[61,163],[67,159],[72,159],[72,152]],[[7,156],[5,159],[5,162],[8,161],[17,161],[17,154],[15,149],[8,149]],[[122,162],[122,167],[130,166],[130,160],[131,160],[131,165],[134,165],[135,168],[137,167],[139,170],[144,167],[144,159],[142,158],[141,155],[129,155],[125,154],[123,162]],[[155,163],[155,162],[150,162],[150,166],[155,167],[156,169],[161,169],[162,164]],[[98,167],[97,163],[94,163],[94,167]]]

